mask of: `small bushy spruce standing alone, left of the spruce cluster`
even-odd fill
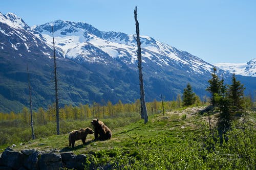
[[[193,92],[192,87],[189,83],[187,83],[187,87],[183,91],[183,106],[190,106],[196,102],[196,94]]]

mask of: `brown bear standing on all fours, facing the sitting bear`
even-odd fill
[[[76,140],[82,140],[83,144],[86,144],[86,137],[88,134],[93,134],[93,130],[91,128],[86,128],[83,129],[81,128],[80,130],[74,130],[72,132],[70,132],[69,134],[69,146],[71,147],[72,144],[72,148],[74,148],[75,146],[75,141]]]

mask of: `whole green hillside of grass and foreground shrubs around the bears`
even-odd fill
[[[96,169],[254,169],[254,112],[248,115],[248,123],[236,122],[226,134],[229,141],[220,143],[217,131],[214,137],[209,134],[208,117],[187,109],[150,116],[147,124],[139,115],[102,119],[113,132],[111,140],[93,141],[94,135],[89,134],[87,144],[76,141],[74,149],[69,147],[67,132],[30,140],[24,145],[15,143],[15,150],[86,154]],[[186,118],[182,118],[184,114]],[[212,126],[216,125],[215,115],[211,118]],[[66,132],[91,125],[86,121],[66,122],[62,126]],[[0,152],[5,147],[1,146]]]

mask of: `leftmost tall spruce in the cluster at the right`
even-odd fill
[[[213,70],[214,72],[211,74],[212,78],[208,81],[210,85],[206,88],[206,90],[211,93],[212,106],[216,106],[216,101],[214,96],[216,94],[217,95],[220,94],[221,82],[218,75],[216,74],[217,68],[214,67]]]

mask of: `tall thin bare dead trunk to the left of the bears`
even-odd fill
[[[53,26],[52,26],[52,39],[53,39],[53,57],[54,57],[54,81],[55,81],[55,103],[56,103],[56,124],[57,124],[57,135],[59,135],[59,100],[58,100],[58,86],[57,86],[57,64],[55,55],[55,43],[53,36]]]

